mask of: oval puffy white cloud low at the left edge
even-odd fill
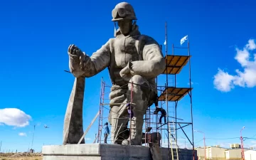
[[[0,123],[14,127],[25,127],[29,124],[30,119],[30,115],[17,108],[0,109]]]

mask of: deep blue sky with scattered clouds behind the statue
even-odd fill
[[[37,151],[43,144],[62,143],[63,119],[74,81],[73,75],[63,71],[68,70],[68,46],[74,43],[92,55],[112,38],[111,11],[119,2],[2,2],[1,151],[26,151],[31,147],[33,125],[36,125],[33,148]],[[251,53],[252,56],[256,48],[256,2],[127,2],[134,6],[139,30],[160,44],[164,43],[164,23],[167,21],[170,51],[172,43],[180,46],[180,39],[188,35],[192,55],[194,129],[206,133],[206,144],[240,143],[238,138],[225,138],[240,137],[243,126],[243,136],[253,137],[256,134],[256,78],[253,74],[256,65],[247,55]],[[186,54],[185,51],[175,53],[179,52]],[[99,109],[102,77],[111,85],[107,70],[85,82],[85,129]],[[164,84],[164,78],[160,79]],[[178,75],[177,82],[178,87],[188,87],[187,67]],[[188,119],[188,108],[186,97],[179,102],[178,117]],[[50,128],[45,129],[44,124]],[[97,122],[88,132],[86,138],[90,140],[86,142],[92,142],[96,133]],[[178,132],[178,137],[184,136]],[[199,142],[202,138],[202,134],[194,134],[196,146],[203,145],[203,141]],[[178,141],[183,145],[183,139]],[[255,140],[245,141],[245,146],[253,145],[256,146]]]

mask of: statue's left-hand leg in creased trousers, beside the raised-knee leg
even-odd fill
[[[113,86],[110,92],[110,115],[109,122],[111,126],[111,143],[121,144],[122,134],[127,130],[128,112],[126,109],[127,103],[127,86],[124,88],[118,88]],[[122,105],[111,105],[119,103]]]

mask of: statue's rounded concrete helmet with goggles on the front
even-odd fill
[[[120,21],[124,19],[137,20],[132,5],[127,2],[117,4],[112,10],[112,21]]]

